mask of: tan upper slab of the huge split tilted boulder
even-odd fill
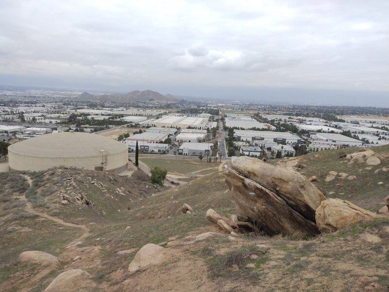
[[[325,200],[318,188],[298,172],[247,156],[235,159],[232,169],[275,193],[293,210],[312,221],[320,201]]]

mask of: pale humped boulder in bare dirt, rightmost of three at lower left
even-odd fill
[[[128,265],[128,272],[134,273],[144,270],[151,265],[158,265],[168,259],[164,253],[164,248],[153,243],[144,245],[135,255]]]

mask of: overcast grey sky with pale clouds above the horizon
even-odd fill
[[[389,1],[0,0],[0,84],[389,106]]]

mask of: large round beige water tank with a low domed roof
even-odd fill
[[[9,146],[8,161],[15,170],[65,166],[119,173],[127,169],[128,147],[94,134],[52,133]]]

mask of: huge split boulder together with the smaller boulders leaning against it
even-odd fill
[[[381,216],[349,201],[326,199],[311,183],[317,178],[307,179],[296,171],[255,158],[234,159],[224,175],[236,205],[235,219],[222,217],[212,209],[206,217],[228,233],[251,229],[268,235],[316,235]],[[350,177],[336,172],[329,176],[332,179]]]

